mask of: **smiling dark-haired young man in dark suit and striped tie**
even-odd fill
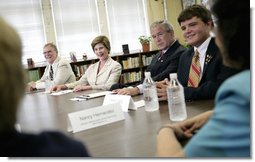
[[[209,10],[193,5],[180,13],[178,22],[186,42],[192,46],[181,56],[177,72],[185,99],[213,99],[220,84],[237,70],[222,64],[219,49],[210,36],[213,22]],[[167,99],[166,87],[167,81],[157,83],[160,100]]]

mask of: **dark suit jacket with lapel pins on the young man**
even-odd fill
[[[187,87],[193,55],[194,48],[183,53],[177,72],[178,80],[184,87],[185,99],[213,99],[221,83],[238,71],[223,65],[219,49],[212,38],[206,51],[204,70],[198,87]]]

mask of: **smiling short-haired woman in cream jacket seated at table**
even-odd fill
[[[111,45],[106,36],[94,38],[91,47],[99,61],[90,65],[85,74],[76,82],[53,86],[51,91],[73,89],[74,92],[86,90],[110,90],[118,83],[121,75],[121,65],[110,56]]]

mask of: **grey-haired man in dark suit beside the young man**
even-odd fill
[[[174,38],[174,30],[167,21],[156,21],[150,26],[151,36],[159,48],[146,71],[151,72],[154,81],[169,77],[169,73],[177,72],[179,58],[185,48]],[[125,85],[115,84],[111,87],[118,94],[138,95],[143,93],[142,84],[136,87],[123,88]],[[120,89],[123,88],[123,89]]]

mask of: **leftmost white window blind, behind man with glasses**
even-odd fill
[[[34,62],[44,61],[45,36],[40,0],[0,0],[0,15],[21,37],[23,64],[27,64],[27,58]]]

